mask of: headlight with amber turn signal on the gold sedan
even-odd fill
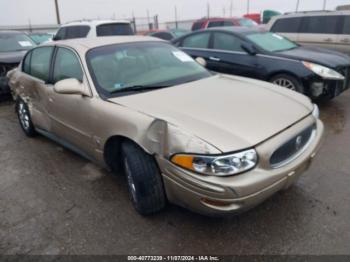
[[[224,156],[176,154],[171,158],[171,162],[204,175],[229,176],[255,167],[258,156],[254,149]]]

